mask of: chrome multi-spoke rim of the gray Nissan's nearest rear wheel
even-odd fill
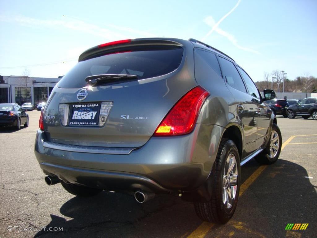
[[[229,154],[224,165],[224,174],[222,179],[222,202],[227,209],[230,209],[236,198],[238,181],[238,166],[234,154]]]

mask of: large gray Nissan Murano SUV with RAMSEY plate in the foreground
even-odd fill
[[[71,194],[126,191],[140,203],[173,194],[194,202],[204,221],[225,223],[240,166],[280,155],[281,132],[264,103],[274,97],[194,39],[105,43],[83,52],[54,87],[35,155],[46,183]]]

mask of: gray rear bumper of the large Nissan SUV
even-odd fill
[[[45,174],[68,183],[114,191],[192,191],[206,181],[216,158],[217,141],[210,145],[208,136],[221,135],[222,130],[219,126],[197,124],[191,134],[152,137],[128,154],[44,147],[45,133],[38,130],[35,155]]]

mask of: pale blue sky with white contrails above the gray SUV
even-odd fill
[[[317,77],[316,0],[0,0],[0,9],[0,75],[63,76],[95,45],[172,37],[223,51],[254,81],[275,69]]]

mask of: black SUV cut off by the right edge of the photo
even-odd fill
[[[288,118],[301,116],[304,119],[308,119],[311,116],[314,120],[317,120],[317,99],[307,97],[296,104],[289,106],[287,109],[287,116]]]

